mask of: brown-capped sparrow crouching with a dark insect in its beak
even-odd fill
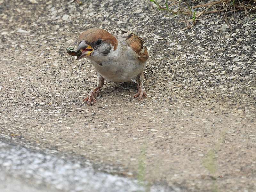
[[[89,92],[83,101],[96,102],[105,79],[112,82],[133,81],[138,92],[133,98],[141,100],[147,93],[143,86],[144,73],[148,60],[148,50],[142,38],[130,31],[106,31],[91,28],[78,37],[76,52],[68,54],[77,56],[76,60],[87,58],[97,71],[97,86]]]

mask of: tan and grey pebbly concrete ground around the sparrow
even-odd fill
[[[183,191],[256,190],[255,17],[202,17],[192,30],[149,1],[0,1],[1,133],[97,170]],[[239,18],[239,19],[238,19]],[[144,86],[106,82],[65,48],[88,28],[132,30],[149,48]]]

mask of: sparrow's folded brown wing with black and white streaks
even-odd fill
[[[120,41],[124,42],[126,45],[130,46],[134,52],[139,56],[141,62],[146,62],[148,60],[148,50],[146,44],[142,38],[135,35],[131,31],[108,31],[113,36],[115,36]]]

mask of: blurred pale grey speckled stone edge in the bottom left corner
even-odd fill
[[[146,191],[146,184],[116,175],[95,172],[87,162],[73,162],[62,158],[29,151],[24,147],[15,147],[0,142],[0,184],[1,191],[17,188],[22,191],[67,191],[67,192],[136,192]],[[13,181],[9,181],[9,178]],[[19,179],[26,183],[26,188],[19,187]],[[11,180],[11,179],[10,179]],[[21,182],[22,183],[22,182]],[[11,185],[11,186],[10,186]],[[143,186],[144,185],[144,186]],[[34,187],[34,188],[33,188]],[[28,189],[29,188],[29,189]],[[32,188],[32,189],[31,189]],[[36,189],[37,188],[37,189]],[[178,192],[170,187],[152,186],[150,192]]]

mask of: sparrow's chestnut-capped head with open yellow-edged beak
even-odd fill
[[[82,54],[76,60],[88,57],[88,59],[101,61],[111,50],[116,50],[117,40],[104,29],[92,28],[79,35],[76,52]]]

